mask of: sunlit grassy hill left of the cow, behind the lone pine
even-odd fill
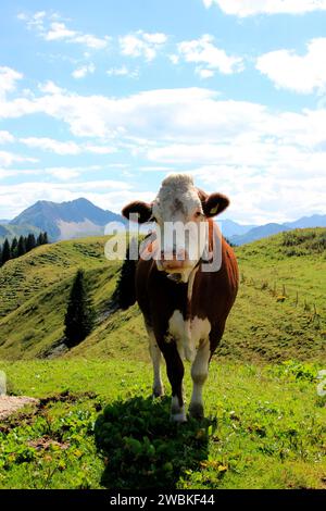
[[[39,247],[0,270],[0,357],[34,358],[58,344],[73,277],[85,269],[98,315],[114,288],[116,263],[103,253],[105,238]]]

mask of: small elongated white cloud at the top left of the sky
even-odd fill
[[[26,23],[28,29],[34,29],[46,41],[64,41],[86,46],[92,50],[102,50],[108,47],[110,37],[98,37],[92,34],[85,34],[73,30],[66,26],[57,13],[39,11],[28,15],[20,13],[18,18]]]

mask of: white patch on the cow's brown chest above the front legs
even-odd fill
[[[185,321],[180,311],[176,310],[168,321],[167,340],[176,340],[181,360],[193,362],[200,342],[208,339],[210,332],[211,323],[208,319],[195,316],[191,321]]]

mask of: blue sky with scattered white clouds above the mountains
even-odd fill
[[[326,0],[0,0],[0,219],[188,173],[243,224],[326,213]]]

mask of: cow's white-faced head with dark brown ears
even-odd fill
[[[138,215],[140,224],[155,222],[160,241],[155,254],[158,269],[178,274],[186,282],[205,248],[208,220],[222,213],[228,204],[224,195],[208,195],[193,185],[190,176],[174,174],[163,180],[152,203],[135,201],[122,213],[126,219],[131,213]]]

